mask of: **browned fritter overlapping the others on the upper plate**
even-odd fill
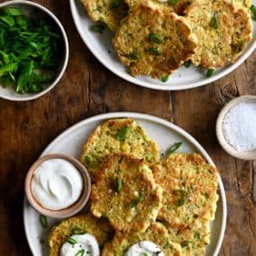
[[[153,2],[136,4],[121,22],[113,44],[131,75],[170,75],[196,50],[185,18],[164,13]]]

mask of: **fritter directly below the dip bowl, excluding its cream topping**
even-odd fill
[[[49,234],[49,256],[58,256],[62,244],[66,242],[66,238],[74,234],[75,231],[93,234],[100,246],[108,242],[113,235],[110,223],[104,218],[96,218],[90,213],[72,216],[51,228]]]

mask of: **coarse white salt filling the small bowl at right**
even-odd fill
[[[231,108],[223,119],[223,133],[238,151],[256,149],[256,103],[243,102]]]

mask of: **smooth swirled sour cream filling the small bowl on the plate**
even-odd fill
[[[60,210],[70,207],[83,191],[83,178],[72,163],[49,159],[35,170],[31,181],[33,197],[42,207]]]

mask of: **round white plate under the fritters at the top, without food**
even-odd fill
[[[95,22],[92,22],[89,19],[80,0],[69,0],[69,3],[76,29],[93,55],[115,75],[118,75],[130,83],[155,90],[184,90],[212,83],[232,72],[237,66],[240,66],[256,48],[256,23],[254,22],[252,40],[244,49],[243,54],[234,62],[234,64],[228,64],[223,68],[217,69],[215,74],[209,78],[206,77],[206,70],[204,68],[192,65],[190,68],[181,66],[176,72],[170,75],[170,78],[166,83],[162,83],[159,79],[152,79],[150,76],[145,75],[133,77],[128,74],[128,68],[123,66],[119,61],[119,57],[111,43],[114,36],[113,32],[105,29],[102,34],[93,33],[89,29]],[[252,3],[256,4],[256,0],[252,0]]]

